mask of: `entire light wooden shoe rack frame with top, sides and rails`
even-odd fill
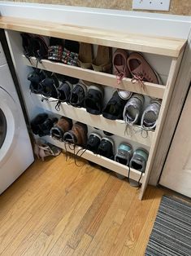
[[[166,120],[167,111],[168,111],[170,100],[171,100],[171,95],[174,90],[174,86],[176,84],[176,77],[177,77],[177,73],[179,72],[180,62],[182,60],[182,55],[184,53],[184,46],[186,44],[186,40],[178,39],[178,38],[159,38],[159,37],[157,38],[157,37],[151,37],[151,36],[144,36],[141,34],[132,35],[128,33],[118,33],[111,30],[106,31],[103,29],[94,29],[94,28],[91,29],[91,28],[85,28],[85,27],[79,27],[79,26],[68,26],[64,24],[55,24],[51,22],[43,23],[43,21],[25,20],[20,18],[11,18],[11,17],[0,17],[0,28],[7,29],[6,30],[7,42],[9,43],[9,46],[10,46],[11,55],[15,64],[15,70],[18,73],[23,94],[26,95],[25,99],[29,102],[29,103],[26,102],[28,113],[33,112],[33,109],[36,108],[37,106],[36,105],[34,106],[34,102],[31,99],[32,96],[29,95],[28,86],[27,86],[28,82],[26,81],[26,74],[24,74],[24,70],[28,70],[27,68],[29,67],[27,65],[35,66],[36,60],[32,58],[32,64],[29,64],[28,60],[26,60],[22,55],[23,50],[22,50],[21,37],[19,32],[37,33],[44,36],[53,36],[55,38],[65,38],[65,39],[76,40],[79,42],[89,42],[97,45],[112,46],[115,48],[118,47],[118,48],[130,50],[130,51],[141,51],[145,53],[145,55],[153,55],[153,57],[160,56],[161,58],[164,58],[164,63],[165,63],[165,60],[167,60],[168,58],[170,68],[169,70],[167,70],[167,82],[165,82],[165,86],[145,83],[145,89],[146,89],[145,90],[146,93],[145,93],[144,91],[142,91],[141,85],[139,85],[138,83],[132,84],[130,79],[128,78],[127,79],[125,78],[123,83],[121,83],[120,85],[122,86],[122,84],[124,84],[124,87],[122,87],[122,89],[125,88],[126,90],[132,90],[132,91],[139,92],[141,94],[152,95],[156,98],[163,99],[160,113],[158,116],[158,125],[156,127],[156,130],[152,134],[152,139],[150,139],[150,137],[147,138],[149,142],[147,141],[147,139],[145,139],[145,144],[147,146],[148,145],[150,146],[150,154],[149,154],[149,158],[148,158],[146,169],[145,169],[145,175],[142,179],[142,186],[141,186],[141,191],[139,196],[140,199],[142,199],[145,192],[145,188],[150,179],[150,173],[152,171],[155,157],[157,157],[156,153],[158,148],[158,142],[162,137],[163,125]],[[54,71],[58,73],[66,72],[67,75],[69,76],[74,76],[74,77],[78,77],[88,81],[98,82],[103,85],[116,87],[115,76],[110,74],[96,73],[90,70],[83,70],[82,68],[75,68],[71,66],[67,67],[64,64],[56,64],[48,60],[43,60],[42,63],[39,64],[39,68],[43,68],[43,67],[47,68],[50,71]],[[39,107],[40,100],[39,98],[37,98],[37,95],[35,96],[38,101],[37,105]],[[46,104],[46,106],[42,107],[42,104]],[[45,110],[48,109],[52,112],[55,111],[53,103],[51,103],[51,105],[47,105],[47,103],[43,102],[41,103],[41,108],[45,108]],[[97,124],[97,122],[99,121],[99,125],[96,125],[96,126],[99,126],[101,129],[106,127],[105,130],[111,131],[111,133],[117,134],[123,137],[122,130],[124,128],[122,129],[120,127],[124,127],[124,124],[119,124],[118,121],[114,121],[112,126],[110,122],[110,125],[108,126],[108,123],[105,120],[105,118],[103,117],[92,118],[88,113],[85,112],[83,108],[74,109],[74,108],[71,108],[71,106],[67,106],[66,104],[63,104],[62,108],[68,109],[67,117],[69,116],[75,117],[77,120],[82,118],[83,121],[86,121],[87,125],[89,126],[92,126],[95,123]],[[137,134],[137,136],[139,135]],[[139,143],[143,143],[142,142],[143,138],[141,138],[141,135],[140,137],[136,137],[136,139],[139,140],[138,141]],[[87,153],[87,155],[85,156],[87,156],[87,158],[91,156],[94,157],[94,155],[91,153],[90,154]],[[89,161],[91,160],[89,159]],[[100,162],[100,164],[104,165],[103,162]],[[112,161],[112,165],[115,165],[114,161]],[[110,169],[112,168],[112,165],[109,166]]]

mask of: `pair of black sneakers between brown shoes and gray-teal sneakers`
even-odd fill
[[[102,157],[114,160],[114,141],[111,138],[102,138],[98,133],[91,133],[86,144],[86,149]]]

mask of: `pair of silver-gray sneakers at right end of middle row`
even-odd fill
[[[161,107],[161,100],[150,99],[150,104],[145,109],[144,102],[143,95],[133,94],[124,106],[124,121],[130,125],[141,123],[141,127],[144,130],[154,130]]]

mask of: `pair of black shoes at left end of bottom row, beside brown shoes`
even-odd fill
[[[31,121],[33,134],[39,135],[40,137],[50,135],[50,130],[56,121],[58,121],[58,118],[51,118],[46,113],[38,114]]]

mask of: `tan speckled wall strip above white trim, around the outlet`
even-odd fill
[[[12,1],[12,0],[8,0]],[[128,10],[132,11],[132,0],[97,0],[97,1],[85,1],[85,0],[14,0],[14,2],[38,2],[38,3],[52,3],[63,4],[76,7],[94,7],[94,8],[106,8],[116,10]],[[188,0],[171,0],[171,7],[169,11],[149,11],[158,13],[169,13],[174,15],[191,15],[191,2]]]

